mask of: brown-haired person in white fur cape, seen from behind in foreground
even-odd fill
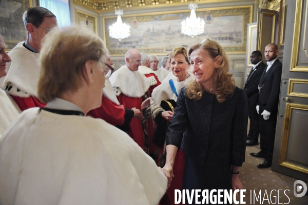
[[[53,29],[40,53],[45,108],[0,142],[0,204],[158,204],[167,179],[123,131],[84,116],[101,106],[107,49],[81,27]]]

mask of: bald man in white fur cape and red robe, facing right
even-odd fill
[[[141,53],[136,49],[129,49],[125,53],[125,66],[119,68],[109,78],[119,103],[127,109],[136,108],[143,110],[145,108],[143,101],[148,97],[146,94],[150,87],[150,83],[147,78],[138,71],[141,63]],[[131,119],[129,124],[129,136],[145,150],[146,141],[141,119],[143,119],[143,115],[139,118]]]

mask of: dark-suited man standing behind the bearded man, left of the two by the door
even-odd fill
[[[258,145],[259,117],[256,106],[259,95],[258,85],[265,68],[265,64],[262,61],[262,53],[260,51],[252,52],[251,63],[254,64],[254,66],[248,75],[244,88],[248,99],[248,116],[250,119],[246,146]]]

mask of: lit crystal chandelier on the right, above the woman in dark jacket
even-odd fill
[[[205,22],[196,16],[197,3],[190,3],[188,8],[191,10],[190,17],[183,20],[181,29],[183,34],[194,37],[204,32]]]

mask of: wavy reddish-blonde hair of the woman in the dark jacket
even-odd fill
[[[208,38],[202,40],[199,43],[191,44],[188,47],[188,56],[197,49],[207,50],[209,55],[214,59],[217,56],[221,56],[221,64],[214,70],[214,85],[216,87],[216,99],[219,103],[223,103],[227,98],[233,95],[235,89],[235,80],[232,73],[229,72],[229,59],[225,50],[214,40]],[[194,74],[186,80],[185,93],[188,98],[200,100],[204,92],[202,84],[197,83]]]

